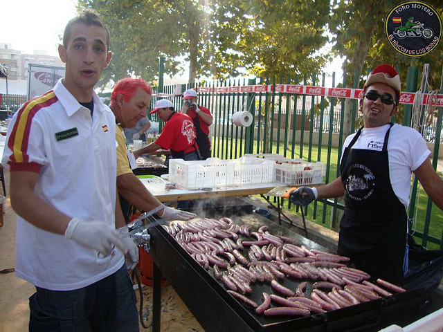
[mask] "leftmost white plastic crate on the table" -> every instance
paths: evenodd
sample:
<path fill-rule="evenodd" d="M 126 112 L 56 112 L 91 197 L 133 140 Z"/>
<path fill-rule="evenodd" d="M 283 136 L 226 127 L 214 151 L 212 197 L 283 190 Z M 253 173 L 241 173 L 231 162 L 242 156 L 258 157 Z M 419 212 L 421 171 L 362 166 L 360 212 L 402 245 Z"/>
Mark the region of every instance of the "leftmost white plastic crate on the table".
<path fill-rule="evenodd" d="M 229 160 L 169 160 L 169 181 L 186 189 L 228 187 L 234 185 L 234 164 Z"/>

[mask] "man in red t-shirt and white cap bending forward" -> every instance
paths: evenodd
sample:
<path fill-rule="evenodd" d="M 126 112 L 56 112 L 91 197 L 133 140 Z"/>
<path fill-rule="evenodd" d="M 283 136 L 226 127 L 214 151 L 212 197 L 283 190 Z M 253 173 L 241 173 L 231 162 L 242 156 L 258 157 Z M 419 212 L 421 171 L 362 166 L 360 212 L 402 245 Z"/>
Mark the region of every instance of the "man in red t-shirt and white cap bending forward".
<path fill-rule="evenodd" d="M 194 124 L 189 116 L 174 111 L 174 105 L 167 99 L 158 100 L 151 114 L 157 113 L 166 122 L 160 136 L 150 145 L 138 149 L 134 156 L 150 154 L 158 149 L 170 149 L 171 158 L 200 160 L 199 146 L 195 142 Z"/>

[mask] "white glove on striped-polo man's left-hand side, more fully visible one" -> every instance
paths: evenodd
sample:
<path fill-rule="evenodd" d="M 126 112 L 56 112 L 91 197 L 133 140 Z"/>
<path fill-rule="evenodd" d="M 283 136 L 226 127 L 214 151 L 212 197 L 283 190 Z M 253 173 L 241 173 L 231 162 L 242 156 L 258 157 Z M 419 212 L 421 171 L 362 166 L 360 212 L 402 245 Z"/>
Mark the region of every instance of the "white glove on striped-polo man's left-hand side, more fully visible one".
<path fill-rule="evenodd" d="M 97 250 L 103 256 L 111 255 L 115 247 L 125 255 L 127 248 L 118 232 L 103 221 L 84 221 L 73 218 L 69 221 L 64 237 L 73 239 L 80 245 Z"/>

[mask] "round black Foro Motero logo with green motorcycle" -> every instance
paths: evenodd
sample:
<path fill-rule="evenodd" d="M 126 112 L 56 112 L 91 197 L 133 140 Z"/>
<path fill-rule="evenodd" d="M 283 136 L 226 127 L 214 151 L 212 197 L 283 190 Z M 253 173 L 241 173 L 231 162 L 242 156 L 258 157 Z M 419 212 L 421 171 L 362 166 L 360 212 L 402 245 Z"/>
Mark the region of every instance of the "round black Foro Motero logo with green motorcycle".
<path fill-rule="evenodd" d="M 423 1 L 395 5 L 386 15 L 385 33 L 390 46 L 407 57 L 422 57 L 442 39 L 442 19 Z"/>

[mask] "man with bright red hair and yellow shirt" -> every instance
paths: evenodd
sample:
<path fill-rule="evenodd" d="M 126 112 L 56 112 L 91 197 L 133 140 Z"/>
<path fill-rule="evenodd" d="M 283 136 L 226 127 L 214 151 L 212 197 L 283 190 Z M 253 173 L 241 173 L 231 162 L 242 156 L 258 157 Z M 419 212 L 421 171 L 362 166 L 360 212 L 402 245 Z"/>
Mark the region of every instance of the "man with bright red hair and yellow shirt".
<path fill-rule="evenodd" d="M 146 116 L 151 95 L 150 85 L 136 78 L 120 80 L 111 94 L 109 108 L 116 116 L 117 123 L 117 189 L 120 205 L 126 221 L 129 221 L 130 205 L 145 212 L 157 209 L 156 214 L 163 219 L 188 220 L 195 214 L 164 206 L 132 172 L 136 168 L 136 159 L 126 146 L 123 129 L 135 127 L 138 120 Z"/>

